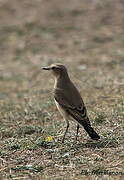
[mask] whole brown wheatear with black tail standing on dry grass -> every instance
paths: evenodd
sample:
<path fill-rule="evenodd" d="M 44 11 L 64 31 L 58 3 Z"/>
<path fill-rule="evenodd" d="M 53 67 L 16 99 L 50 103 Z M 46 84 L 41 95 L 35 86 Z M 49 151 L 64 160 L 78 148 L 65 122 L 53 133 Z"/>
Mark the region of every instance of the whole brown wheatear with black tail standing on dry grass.
<path fill-rule="evenodd" d="M 54 100 L 58 110 L 67 122 L 62 142 L 64 142 L 65 135 L 69 128 L 69 117 L 72 117 L 77 123 L 76 139 L 79 126 L 83 126 L 93 140 L 100 139 L 100 136 L 91 127 L 82 97 L 70 80 L 66 67 L 62 64 L 56 63 L 48 67 L 43 67 L 42 69 L 52 71 L 55 77 Z"/>

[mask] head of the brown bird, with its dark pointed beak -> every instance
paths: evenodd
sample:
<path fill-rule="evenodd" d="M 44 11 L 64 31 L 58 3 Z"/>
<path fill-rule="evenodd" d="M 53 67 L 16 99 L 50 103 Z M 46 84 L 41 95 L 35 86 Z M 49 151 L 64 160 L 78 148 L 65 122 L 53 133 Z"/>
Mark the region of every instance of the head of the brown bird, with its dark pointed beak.
<path fill-rule="evenodd" d="M 60 77 L 61 75 L 67 74 L 67 69 L 63 64 L 51 64 L 47 67 L 42 67 L 43 70 L 49 70 L 53 73 L 55 77 Z"/>

